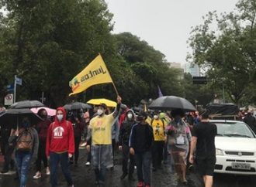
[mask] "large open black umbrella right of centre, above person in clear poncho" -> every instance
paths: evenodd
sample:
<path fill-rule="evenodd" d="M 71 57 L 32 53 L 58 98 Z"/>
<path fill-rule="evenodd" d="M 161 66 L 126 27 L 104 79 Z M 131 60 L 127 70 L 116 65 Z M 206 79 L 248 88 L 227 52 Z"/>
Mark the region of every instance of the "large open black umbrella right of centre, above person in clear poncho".
<path fill-rule="evenodd" d="M 185 111 L 195 111 L 195 107 L 182 97 L 175 96 L 164 96 L 158 97 L 156 100 L 153 100 L 149 108 L 154 110 L 173 110 L 173 109 L 182 109 Z"/>

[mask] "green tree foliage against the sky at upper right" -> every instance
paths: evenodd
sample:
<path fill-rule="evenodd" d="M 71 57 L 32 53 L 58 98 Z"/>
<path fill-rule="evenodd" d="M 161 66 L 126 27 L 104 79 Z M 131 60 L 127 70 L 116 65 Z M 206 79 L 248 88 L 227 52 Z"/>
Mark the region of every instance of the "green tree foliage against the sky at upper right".
<path fill-rule="evenodd" d="M 193 51 L 189 59 L 206 66 L 207 76 L 215 82 L 212 86 L 221 90 L 224 85 L 229 100 L 241 104 L 241 100 L 254 94 L 248 88 L 254 87 L 256 70 L 255 1 L 240 0 L 237 10 L 206 15 L 204 23 L 192 30 L 189 43 Z M 214 23 L 218 24 L 216 29 Z"/>

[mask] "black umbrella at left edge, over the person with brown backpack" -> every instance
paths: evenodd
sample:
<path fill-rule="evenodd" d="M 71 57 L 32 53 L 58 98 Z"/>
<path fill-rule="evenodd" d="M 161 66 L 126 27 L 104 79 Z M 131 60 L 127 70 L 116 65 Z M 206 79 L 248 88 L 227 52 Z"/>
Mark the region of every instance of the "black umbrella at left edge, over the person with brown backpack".
<path fill-rule="evenodd" d="M 28 108 L 22 108 L 6 110 L 5 113 L 0 115 L 0 124 L 16 127 L 17 125 L 22 123 L 23 117 L 29 117 L 29 121 L 32 125 L 43 121 L 41 117 L 39 117 L 37 114 L 34 114 Z"/>

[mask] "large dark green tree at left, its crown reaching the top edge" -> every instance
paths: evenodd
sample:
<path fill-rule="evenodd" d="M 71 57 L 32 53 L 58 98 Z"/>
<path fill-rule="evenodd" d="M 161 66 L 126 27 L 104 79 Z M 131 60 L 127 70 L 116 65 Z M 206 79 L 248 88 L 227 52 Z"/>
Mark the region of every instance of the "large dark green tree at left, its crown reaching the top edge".
<path fill-rule="evenodd" d="M 112 14 L 104 1 L 2 1 L 2 70 L 11 80 L 22 77 L 19 99 L 39 99 L 41 92 L 55 106 L 64 104 L 68 82 L 98 53 L 114 51 Z M 5 35 L 5 36 L 4 36 Z"/>

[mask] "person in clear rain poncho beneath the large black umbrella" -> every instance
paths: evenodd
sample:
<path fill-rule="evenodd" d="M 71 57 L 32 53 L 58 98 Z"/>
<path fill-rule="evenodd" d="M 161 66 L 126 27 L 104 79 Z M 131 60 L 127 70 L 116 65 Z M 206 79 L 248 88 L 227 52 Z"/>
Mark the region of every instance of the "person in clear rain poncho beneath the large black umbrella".
<path fill-rule="evenodd" d="M 168 124 L 166 134 L 168 134 L 168 151 L 171 153 L 171 157 L 174 161 L 178 180 L 187 184 L 185 173 L 191 133 L 189 126 L 182 120 L 184 115 L 184 111 L 182 110 L 176 109 L 171 111 L 171 116 L 174 119 Z"/>

